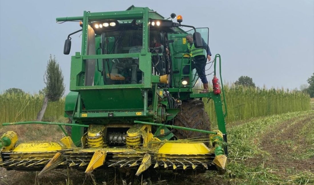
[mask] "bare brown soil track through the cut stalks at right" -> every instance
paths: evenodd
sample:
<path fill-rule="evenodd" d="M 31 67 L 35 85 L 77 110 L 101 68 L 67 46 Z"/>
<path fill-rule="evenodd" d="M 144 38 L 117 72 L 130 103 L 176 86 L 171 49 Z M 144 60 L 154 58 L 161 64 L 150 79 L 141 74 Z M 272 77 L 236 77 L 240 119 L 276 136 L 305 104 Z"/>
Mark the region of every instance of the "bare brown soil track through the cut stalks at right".
<path fill-rule="evenodd" d="M 307 143 L 305 142 L 304 138 L 306 136 L 301 136 L 299 135 L 299 133 L 302 128 L 314 118 L 314 115 L 304 115 L 302 117 L 303 118 L 299 118 L 298 120 L 297 118 L 294 118 L 285 122 L 275 131 L 271 131 L 263 137 L 263 139 L 261 140 L 261 148 L 271 154 L 271 157 L 269 157 L 267 161 L 264 161 L 265 165 L 275 166 L 276 169 L 280 170 L 280 172 L 285 172 L 287 168 L 293 167 L 298 171 L 314 172 L 314 157 L 305 160 L 293 159 L 289 156 L 289 153 L 295 152 L 291 146 L 289 146 L 288 144 L 275 143 L 276 140 L 294 141 L 293 145 L 304 146 L 302 147 L 302 149 L 300 149 L 300 147 L 298 149 L 302 150 L 301 152 L 305 152 Z M 289 126 L 293 122 L 295 123 L 292 126 Z M 284 131 L 280 133 L 280 131 L 282 131 L 283 129 Z M 257 160 L 261 162 L 261 159 Z"/>

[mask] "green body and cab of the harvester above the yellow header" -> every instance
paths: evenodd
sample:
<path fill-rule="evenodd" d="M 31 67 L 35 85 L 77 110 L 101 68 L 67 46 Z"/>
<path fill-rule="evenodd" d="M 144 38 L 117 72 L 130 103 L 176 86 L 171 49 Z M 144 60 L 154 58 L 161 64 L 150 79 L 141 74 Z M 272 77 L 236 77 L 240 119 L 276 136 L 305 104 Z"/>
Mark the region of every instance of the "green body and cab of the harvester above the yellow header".
<path fill-rule="evenodd" d="M 198 80 L 196 70 L 190 70 L 187 75 L 182 72 L 185 66 L 191 69 L 191 58 L 186 53 L 187 32 L 180 27 L 157 28 L 151 24 L 160 21 L 161 24 L 171 22 L 172 25 L 171 20 L 165 20 L 150 8 L 131 6 L 126 11 L 84 11 L 82 17 L 57 18 L 57 21 L 83 23 L 82 48 L 71 57 L 71 92 L 65 103 L 66 116 L 72 117 L 73 124 L 131 124 L 141 121 L 142 124 L 158 124 L 155 126 L 161 126 L 160 130 L 163 125 L 168 127 L 167 123 L 172 122 L 180 111 L 169 102 L 204 97 L 214 100 L 219 130 L 226 134 L 220 95 L 196 94 L 193 90 Z M 109 26 L 108 30 L 95 27 L 104 21 L 115 21 L 116 27 Z M 151 49 L 152 38 L 156 39 L 156 35 L 168 49 L 169 56 L 165 48 L 161 48 L 159 53 Z M 137 39 L 127 40 L 133 37 Z M 120 41 L 119 38 L 126 39 Z M 160 76 L 166 74 L 169 85 L 160 83 Z M 189 83 L 182 85 L 185 78 L 190 79 Z M 72 127 L 71 137 L 76 145 L 80 144 L 85 131 L 79 126 Z M 162 137 L 169 140 L 172 133 Z"/>

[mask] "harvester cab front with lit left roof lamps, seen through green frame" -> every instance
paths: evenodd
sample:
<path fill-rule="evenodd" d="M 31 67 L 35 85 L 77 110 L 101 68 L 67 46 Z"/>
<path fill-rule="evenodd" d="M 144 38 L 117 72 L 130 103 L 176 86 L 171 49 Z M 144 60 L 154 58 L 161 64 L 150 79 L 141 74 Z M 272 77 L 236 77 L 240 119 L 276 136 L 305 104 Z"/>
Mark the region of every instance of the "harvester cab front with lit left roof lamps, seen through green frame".
<path fill-rule="evenodd" d="M 88 45 L 94 41 L 96 54 L 139 54 L 143 49 L 142 19 L 133 20 L 102 20 L 90 23 L 92 39 L 87 39 Z M 94 32 L 93 32 L 94 31 Z M 90 32 L 89 32 L 90 33 Z M 88 53 L 89 54 L 89 53 Z M 98 59 L 96 64 L 86 63 L 87 66 L 96 66 L 93 78 L 100 85 L 142 84 L 143 72 L 139 69 L 138 55 L 120 58 Z M 94 67 L 95 69 L 95 67 Z M 91 78 L 89 73 L 87 78 Z M 85 83 L 87 84 L 87 83 Z"/>

